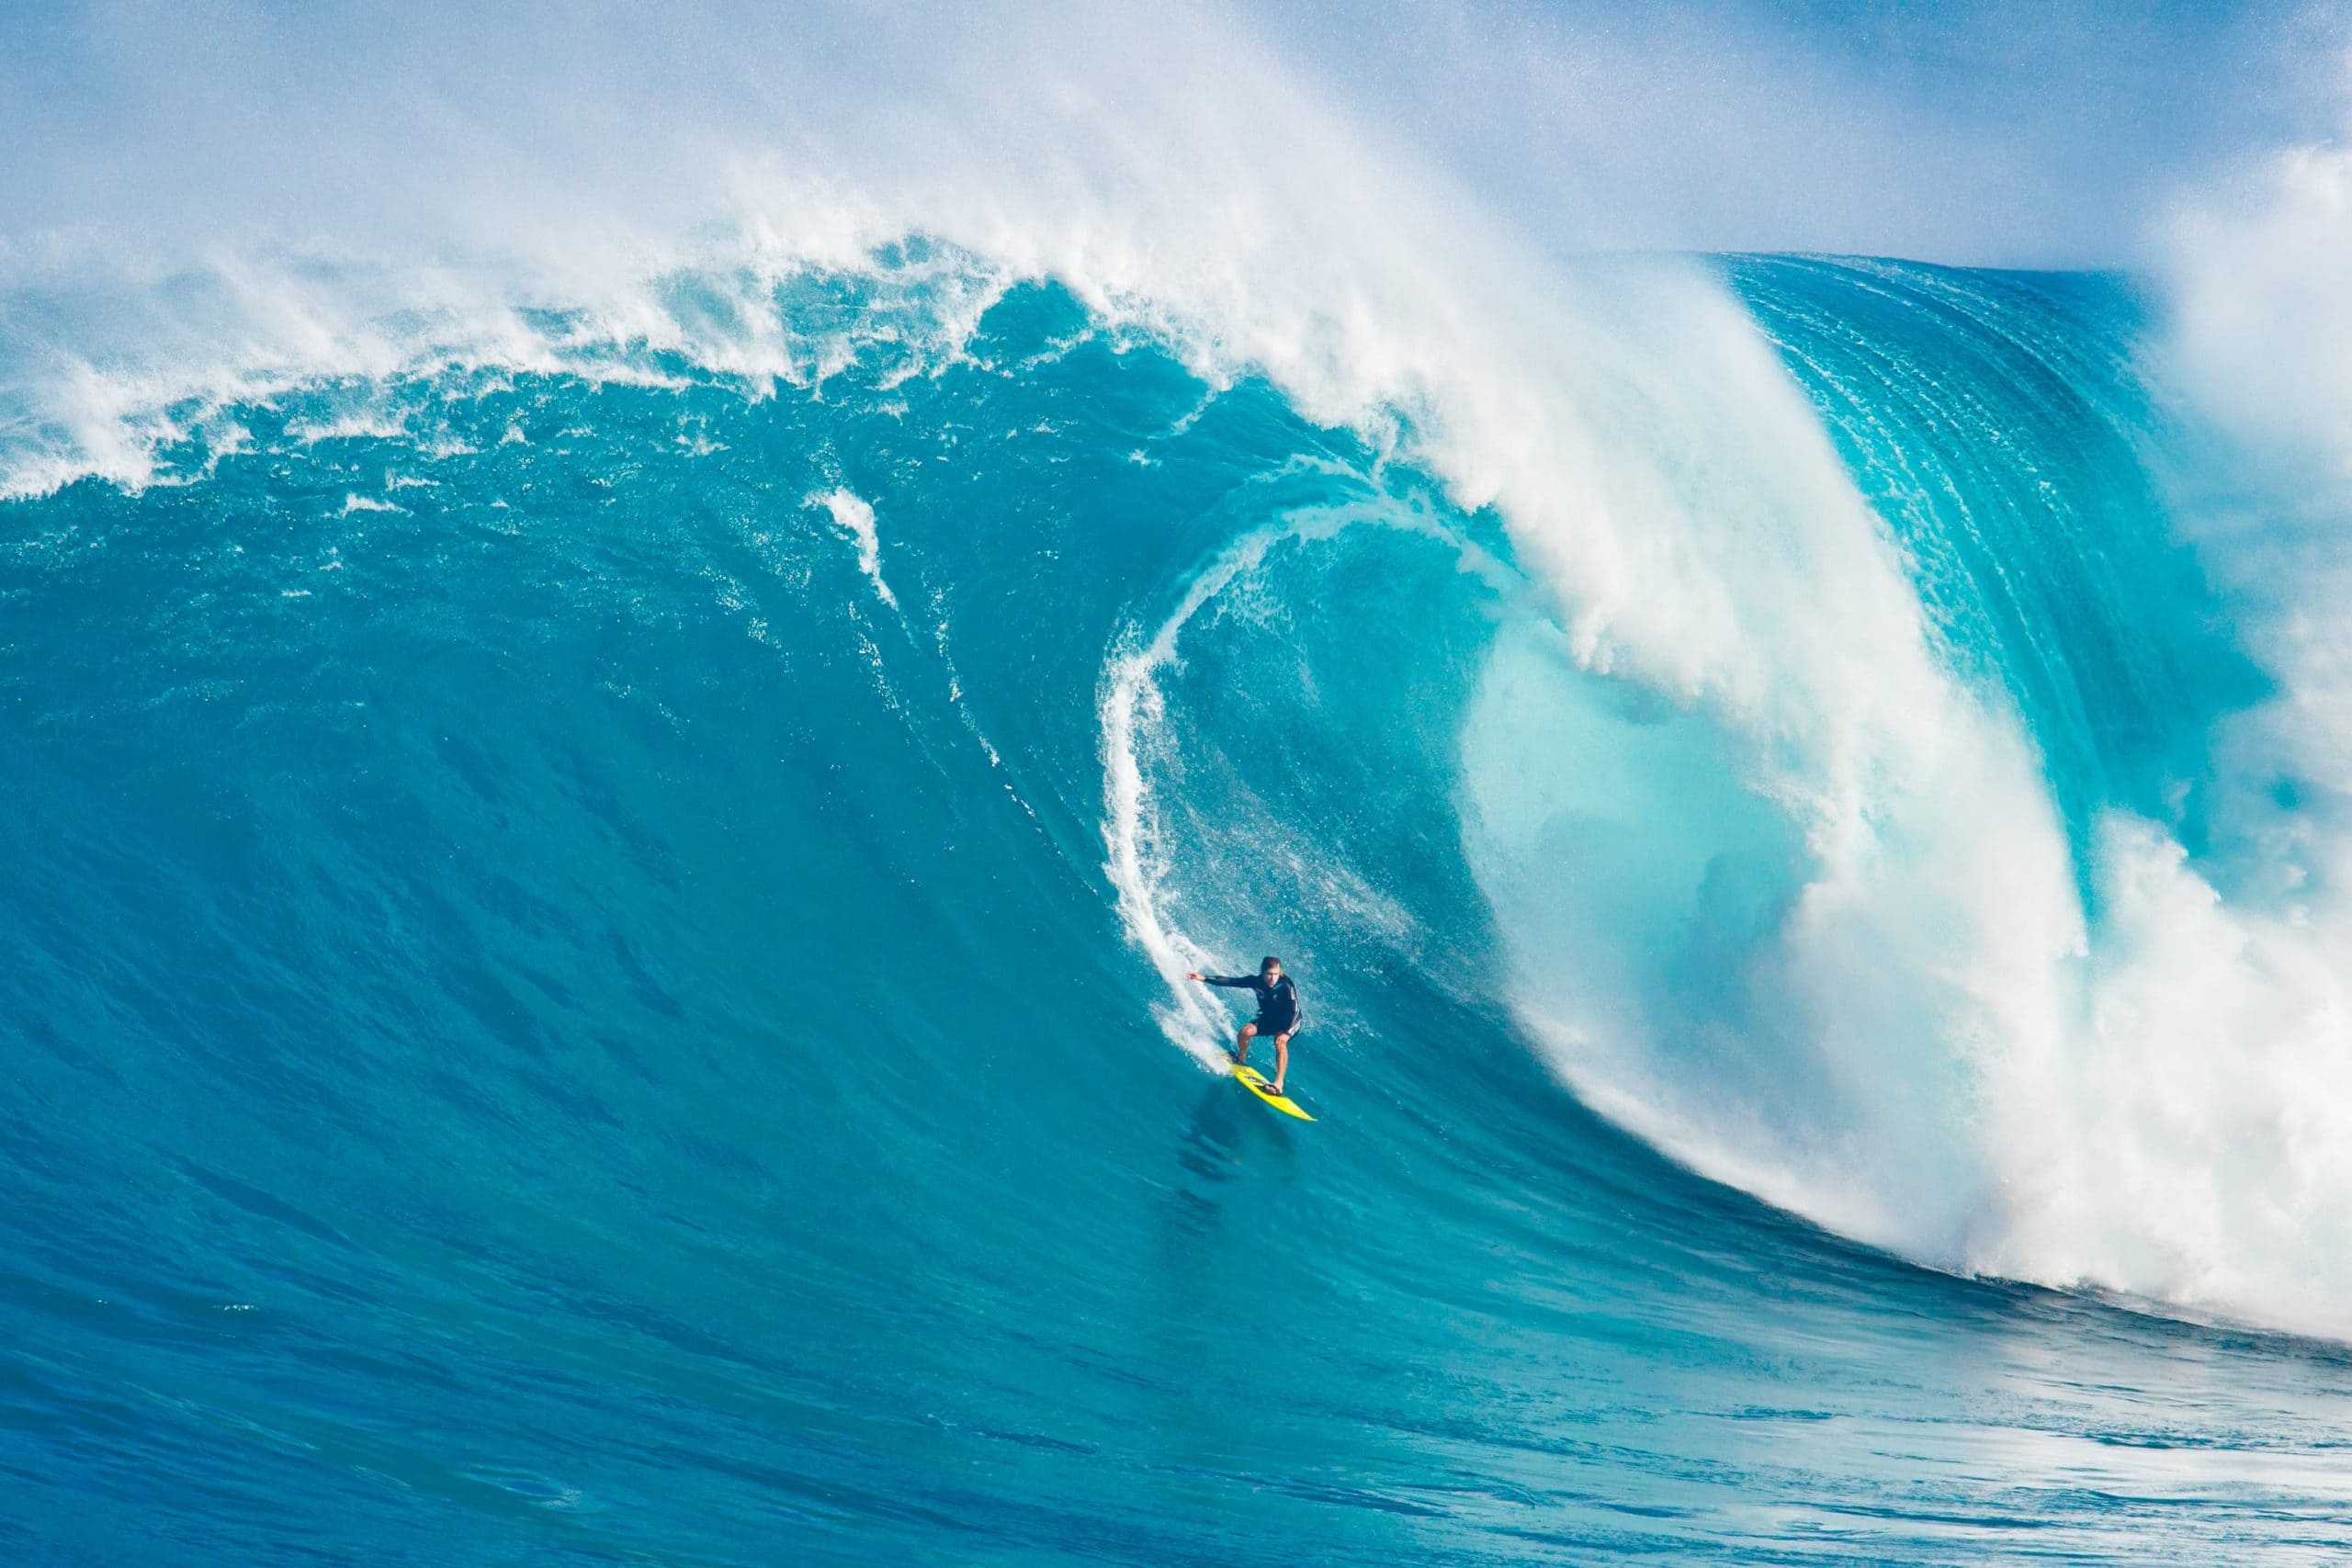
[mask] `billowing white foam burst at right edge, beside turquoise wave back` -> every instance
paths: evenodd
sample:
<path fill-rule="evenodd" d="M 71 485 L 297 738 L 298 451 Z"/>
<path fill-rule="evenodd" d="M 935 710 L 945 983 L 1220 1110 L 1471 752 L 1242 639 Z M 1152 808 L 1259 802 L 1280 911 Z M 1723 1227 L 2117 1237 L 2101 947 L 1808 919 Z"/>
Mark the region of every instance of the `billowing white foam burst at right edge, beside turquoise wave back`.
<path fill-rule="evenodd" d="M 2352 158 L 2171 230 L 2157 376 L 2227 449 L 2180 487 L 2274 696 L 2213 736 L 2209 849 L 2098 825 L 2082 1006 L 1992 1081 L 1985 1267 L 2352 1333 Z"/>

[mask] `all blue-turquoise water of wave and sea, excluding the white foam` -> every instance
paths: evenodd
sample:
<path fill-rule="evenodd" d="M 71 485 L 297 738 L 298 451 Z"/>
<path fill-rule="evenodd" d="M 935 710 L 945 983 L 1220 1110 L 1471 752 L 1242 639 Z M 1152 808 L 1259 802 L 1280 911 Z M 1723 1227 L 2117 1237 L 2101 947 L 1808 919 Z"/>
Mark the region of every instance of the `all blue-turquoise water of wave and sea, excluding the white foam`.
<path fill-rule="evenodd" d="M 2103 811 L 2206 853 L 2267 682 L 2176 541 L 2131 289 L 1715 268 L 2093 929 Z M 847 334 L 811 386 L 296 381 L 0 503 L 7 1556 L 2352 1547 L 2340 1345 L 1842 1239 L 1550 1070 L 1465 827 L 1491 703 L 1583 691 L 1616 762 L 1559 766 L 1682 802 L 1545 827 L 1592 879 L 1545 893 L 1668 954 L 1679 1072 L 1757 1070 L 1726 976 L 1813 851 L 1705 710 L 1548 639 L 1505 515 L 1061 287 L 943 360 L 875 289 L 771 299 Z M 1301 978 L 1317 1124 L 1171 1044 L 1127 757 L 1152 917 Z"/>

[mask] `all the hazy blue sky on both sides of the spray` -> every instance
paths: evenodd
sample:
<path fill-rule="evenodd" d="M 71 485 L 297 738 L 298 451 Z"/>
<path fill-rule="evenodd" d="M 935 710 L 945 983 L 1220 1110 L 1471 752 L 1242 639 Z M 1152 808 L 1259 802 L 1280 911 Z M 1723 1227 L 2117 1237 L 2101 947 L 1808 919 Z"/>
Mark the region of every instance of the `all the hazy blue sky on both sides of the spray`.
<path fill-rule="evenodd" d="M 477 235 L 501 202 L 567 200 L 691 221 L 715 158 L 915 113 L 1068 31 L 1054 7 L 482 12 L 16 0 L 0 237 L 430 242 L 454 207 Z M 1202 26 L 1559 247 L 2018 266 L 2131 263 L 2183 190 L 2333 136 L 2347 33 L 2343 5 L 2086 0 L 1331 0 Z"/>

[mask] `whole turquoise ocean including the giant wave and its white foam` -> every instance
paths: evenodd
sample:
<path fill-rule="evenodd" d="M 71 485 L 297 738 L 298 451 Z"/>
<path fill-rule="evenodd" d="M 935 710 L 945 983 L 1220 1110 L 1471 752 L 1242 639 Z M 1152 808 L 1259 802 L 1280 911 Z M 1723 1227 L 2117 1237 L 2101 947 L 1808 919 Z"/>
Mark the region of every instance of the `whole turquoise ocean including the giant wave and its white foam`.
<path fill-rule="evenodd" d="M 2147 301 L 1578 287 L 19 301 L 9 1561 L 2343 1561 L 2331 752 Z"/>

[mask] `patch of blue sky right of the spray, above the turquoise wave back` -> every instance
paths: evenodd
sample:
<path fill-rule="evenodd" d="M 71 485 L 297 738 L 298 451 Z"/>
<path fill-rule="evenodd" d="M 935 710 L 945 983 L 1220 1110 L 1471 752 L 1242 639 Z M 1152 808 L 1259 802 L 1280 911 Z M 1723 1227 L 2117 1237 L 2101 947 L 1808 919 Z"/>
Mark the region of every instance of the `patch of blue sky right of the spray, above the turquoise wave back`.
<path fill-rule="evenodd" d="M 1350 9 L 1289 26 L 1458 167 L 1705 249 L 2129 263 L 2185 190 L 2331 139 L 2352 80 L 2343 5 L 1397 7 L 1411 47 Z"/>

